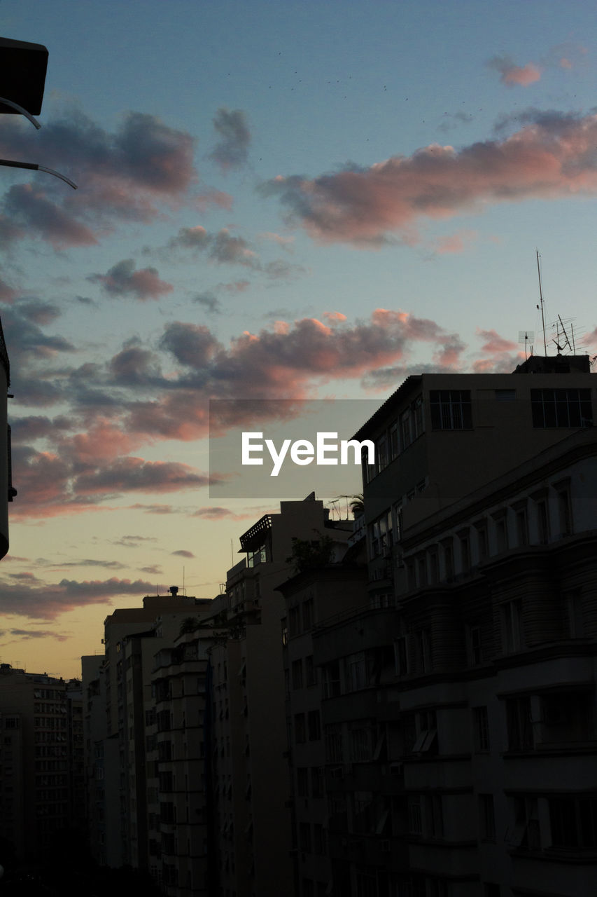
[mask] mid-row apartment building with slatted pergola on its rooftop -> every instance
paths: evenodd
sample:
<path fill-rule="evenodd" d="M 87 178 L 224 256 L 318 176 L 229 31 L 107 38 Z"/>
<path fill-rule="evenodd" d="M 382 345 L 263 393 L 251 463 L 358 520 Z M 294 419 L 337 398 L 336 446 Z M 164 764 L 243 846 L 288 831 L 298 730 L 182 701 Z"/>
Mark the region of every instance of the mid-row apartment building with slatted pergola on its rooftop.
<path fill-rule="evenodd" d="M 214 643 L 212 749 L 221 897 L 293 893 L 293 839 L 282 642 L 286 608 L 276 590 L 293 571 L 293 545 L 342 541 L 323 502 L 282 501 L 240 536 L 246 558 L 227 574 L 228 627 Z M 344 540 L 350 533 L 346 531 Z M 294 540 L 294 541 L 293 541 Z"/>

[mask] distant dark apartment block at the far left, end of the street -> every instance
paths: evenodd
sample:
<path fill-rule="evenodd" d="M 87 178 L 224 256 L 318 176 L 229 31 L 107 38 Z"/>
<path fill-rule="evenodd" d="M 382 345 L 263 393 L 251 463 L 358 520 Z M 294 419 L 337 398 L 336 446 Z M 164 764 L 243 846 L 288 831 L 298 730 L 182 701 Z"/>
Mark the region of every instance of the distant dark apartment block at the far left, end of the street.
<path fill-rule="evenodd" d="M 75 686 L 0 665 L 0 837 L 21 860 L 48 858 L 56 837 L 81 823 Z"/>

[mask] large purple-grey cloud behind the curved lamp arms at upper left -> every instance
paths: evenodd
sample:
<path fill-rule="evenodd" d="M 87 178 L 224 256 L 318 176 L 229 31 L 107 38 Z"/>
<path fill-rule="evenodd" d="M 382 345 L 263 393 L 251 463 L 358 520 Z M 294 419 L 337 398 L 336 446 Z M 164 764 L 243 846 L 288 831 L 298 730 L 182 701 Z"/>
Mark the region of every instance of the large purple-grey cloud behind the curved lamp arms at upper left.
<path fill-rule="evenodd" d="M 35 135 L 16 116 L 6 118 L 11 120 L 3 122 L 0 155 L 34 154 L 84 190 L 55 194 L 48 186 L 46 191 L 41 186 L 48 183 L 46 175 L 13 185 L 4 195 L 0 236 L 2 231 L 8 239 L 34 234 L 59 249 L 89 246 L 118 222 L 151 222 L 162 205 L 192 199 L 195 141 L 155 116 L 128 112 L 110 133 L 71 109 Z"/>

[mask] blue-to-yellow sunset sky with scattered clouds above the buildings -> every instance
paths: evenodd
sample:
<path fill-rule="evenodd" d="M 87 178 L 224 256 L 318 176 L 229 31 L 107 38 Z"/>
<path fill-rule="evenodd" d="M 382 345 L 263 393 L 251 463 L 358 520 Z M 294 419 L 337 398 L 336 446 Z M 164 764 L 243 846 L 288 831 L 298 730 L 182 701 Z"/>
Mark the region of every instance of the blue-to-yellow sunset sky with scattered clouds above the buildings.
<path fill-rule="evenodd" d="M 537 249 L 549 353 L 558 315 L 597 353 L 594 3 L 0 0 L 0 35 L 49 50 L 0 157 L 78 186 L 0 168 L 2 662 L 78 676 L 115 608 L 218 594 L 276 501 L 210 498 L 209 399 L 513 370 Z"/>

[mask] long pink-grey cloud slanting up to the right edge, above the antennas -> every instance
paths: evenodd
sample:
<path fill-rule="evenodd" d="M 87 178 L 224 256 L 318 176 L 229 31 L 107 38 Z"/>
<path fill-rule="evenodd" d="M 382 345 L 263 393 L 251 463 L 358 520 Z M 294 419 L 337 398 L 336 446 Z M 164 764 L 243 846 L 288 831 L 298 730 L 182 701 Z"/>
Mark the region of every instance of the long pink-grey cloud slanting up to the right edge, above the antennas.
<path fill-rule="evenodd" d="M 460 150 L 431 144 L 367 169 L 315 179 L 278 177 L 262 192 L 321 243 L 379 247 L 388 234 L 417 241 L 416 225 L 480 212 L 488 205 L 597 193 L 597 116 L 531 112 L 502 140 Z"/>

